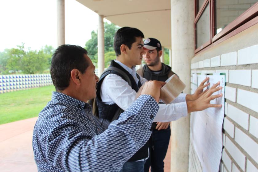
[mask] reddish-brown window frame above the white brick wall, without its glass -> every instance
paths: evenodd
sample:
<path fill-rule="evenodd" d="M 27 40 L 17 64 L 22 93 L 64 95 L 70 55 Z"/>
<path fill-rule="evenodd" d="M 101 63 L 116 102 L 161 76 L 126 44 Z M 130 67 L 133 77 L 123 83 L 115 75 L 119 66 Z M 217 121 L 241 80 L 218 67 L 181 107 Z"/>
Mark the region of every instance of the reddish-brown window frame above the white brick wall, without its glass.
<path fill-rule="evenodd" d="M 216 6 L 215 0 L 205 0 L 201 5 L 199 11 L 198 9 L 198 0 L 195 1 L 195 18 L 194 18 L 194 44 L 195 44 L 195 51 L 194 53 L 201 53 L 206 49 L 211 48 L 214 45 L 225 41 L 226 39 L 236 35 L 237 33 L 242 32 L 243 30 L 251 27 L 258 23 L 258 2 L 256 2 L 253 6 L 247 9 L 243 14 L 238 16 L 233 22 L 229 23 L 221 32 L 215 32 L 215 22 L 216 22 Z M 196 23 L 198 22 L 201 14 L 205 10 L 205 7 L 209 3 L 210 7 L 210 40 L 207 41 L 205 44 L 201 45 L 200 47 L 197 46 L 197 32 L 196 32 Z"/>

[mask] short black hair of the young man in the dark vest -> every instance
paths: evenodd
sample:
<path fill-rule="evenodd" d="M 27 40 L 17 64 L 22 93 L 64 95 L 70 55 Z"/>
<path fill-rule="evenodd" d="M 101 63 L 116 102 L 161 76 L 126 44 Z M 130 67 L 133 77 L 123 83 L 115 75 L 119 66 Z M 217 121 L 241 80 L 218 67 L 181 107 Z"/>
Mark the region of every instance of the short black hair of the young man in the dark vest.
<path fill-rule="evenodd" d="M 132 43 L 136 41 L 136 37 L 144 38 L 142 31 L 139 29 L 132 27 L 122 27 L 118 29 L 114 38 L 115 55 L 121 55 L 120 46 L 123 44 L 131 49 Z"/>

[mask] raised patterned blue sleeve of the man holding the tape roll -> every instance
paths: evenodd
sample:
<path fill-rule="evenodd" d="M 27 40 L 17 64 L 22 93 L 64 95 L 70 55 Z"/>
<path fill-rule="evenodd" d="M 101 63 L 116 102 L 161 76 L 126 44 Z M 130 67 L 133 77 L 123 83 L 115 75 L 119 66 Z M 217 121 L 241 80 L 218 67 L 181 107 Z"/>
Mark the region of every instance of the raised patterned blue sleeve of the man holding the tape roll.
<path fill-rule="evenodd" d="M 158 104 L 154 98 L 142 95 L 100 135 L 91 138 L 81 132 L 78 139 L 70 138 L 68 142 L 73 141 L 72 145 L 64 145 L 66 148 L 63 150 L 67 152 L 60 155 L 66 157 L 63 158 L 63 169 L 102 171 L 105 168 L 105 171 L 119 171 L 149 139 L 151 123 L 157 111 Z"/>

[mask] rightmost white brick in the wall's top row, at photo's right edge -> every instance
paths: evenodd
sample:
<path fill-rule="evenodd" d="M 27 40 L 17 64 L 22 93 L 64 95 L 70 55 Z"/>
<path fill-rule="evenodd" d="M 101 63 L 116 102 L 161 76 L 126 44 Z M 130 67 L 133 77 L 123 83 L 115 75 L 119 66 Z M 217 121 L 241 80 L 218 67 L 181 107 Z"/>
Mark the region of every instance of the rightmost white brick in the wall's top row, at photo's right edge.
<path fill-rule="evenodd" d="M 258 63 L 258 45 L 238 50 L 237 65 Z"/>

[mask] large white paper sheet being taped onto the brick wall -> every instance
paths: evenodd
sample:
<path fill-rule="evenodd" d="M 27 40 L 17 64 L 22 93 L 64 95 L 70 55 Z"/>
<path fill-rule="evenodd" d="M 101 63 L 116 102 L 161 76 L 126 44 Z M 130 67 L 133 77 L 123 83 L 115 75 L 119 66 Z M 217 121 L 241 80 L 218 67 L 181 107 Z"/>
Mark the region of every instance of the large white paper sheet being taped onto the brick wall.
<path fill-rule="evenodd" d="M 198 75 L 198 85 L 206 75 Z M 222 108 L 208 108 L 191 113 L 191 140 L 204 172 L 218 172 L 222 151 L 222 123 L 224 119 L 225 75 L 209 75 L 210 86 L 220 81 L 223 96 L 211 101 L 222 104 Z M 200 80 L 199 80 L 200 79 Z"/>

